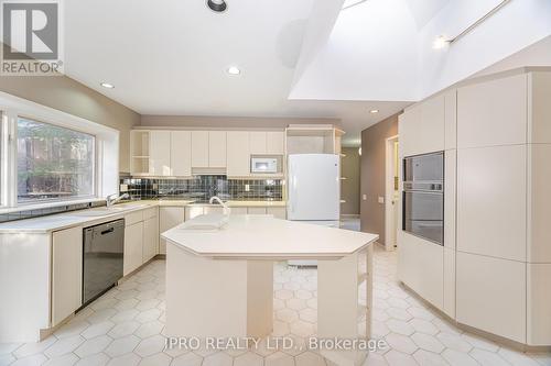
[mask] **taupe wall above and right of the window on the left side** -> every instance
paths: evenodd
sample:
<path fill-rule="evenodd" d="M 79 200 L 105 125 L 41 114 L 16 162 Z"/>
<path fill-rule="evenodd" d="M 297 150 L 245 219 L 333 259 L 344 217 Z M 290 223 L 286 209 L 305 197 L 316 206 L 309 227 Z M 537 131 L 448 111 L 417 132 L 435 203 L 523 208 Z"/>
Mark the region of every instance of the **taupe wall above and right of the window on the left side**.
<path fill-rule="evenodd" d="M 0 91 L 120 131 L 119 170 L 130 170 L 130 129 L 140 114 L 65 76 L 0 77 Z"/>

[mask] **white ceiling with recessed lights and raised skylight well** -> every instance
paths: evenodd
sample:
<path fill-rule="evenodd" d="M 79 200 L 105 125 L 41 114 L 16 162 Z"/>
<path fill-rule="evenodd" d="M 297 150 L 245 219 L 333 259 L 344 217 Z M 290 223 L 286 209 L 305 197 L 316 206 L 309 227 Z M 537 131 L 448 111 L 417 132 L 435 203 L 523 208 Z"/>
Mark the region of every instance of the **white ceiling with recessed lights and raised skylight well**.
<path fill-rule="evenodd" d="M 424 79 L 450 85 L 547 32 L 525 18 L 538 34 L 528 27 L 493 57 L 462 48 L 461 65 L 476 62 L 439 79 L 453 59 L 426 47 L 432 33 L 473 15 L 467 2 L 495 1 L 367 0 L 339 12 L 343 0 L 227 0 L 223 14 L 205 0 L 65 1 L 65 71 L 141 114 L 337 118 L 357 145 L 363 129 L 433 90 Z M 228 76 L 231 65 L 242 74 Z"/>

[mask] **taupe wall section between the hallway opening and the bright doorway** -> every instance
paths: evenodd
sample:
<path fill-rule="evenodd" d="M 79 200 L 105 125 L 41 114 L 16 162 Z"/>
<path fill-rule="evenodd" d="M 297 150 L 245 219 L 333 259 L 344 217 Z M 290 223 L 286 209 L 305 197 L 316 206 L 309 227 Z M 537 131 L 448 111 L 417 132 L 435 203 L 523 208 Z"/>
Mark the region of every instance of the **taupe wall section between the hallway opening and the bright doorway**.
<path fill-rule="evenodd" d="M 385 243 L 385 204 L 378 202 L 385 197 L 386 138 L 398 134 L 398 114 L 361 131 L 361 178 L 360 195 L 367 199 L 360 202 L 361 231 L 379 235 Z"/>

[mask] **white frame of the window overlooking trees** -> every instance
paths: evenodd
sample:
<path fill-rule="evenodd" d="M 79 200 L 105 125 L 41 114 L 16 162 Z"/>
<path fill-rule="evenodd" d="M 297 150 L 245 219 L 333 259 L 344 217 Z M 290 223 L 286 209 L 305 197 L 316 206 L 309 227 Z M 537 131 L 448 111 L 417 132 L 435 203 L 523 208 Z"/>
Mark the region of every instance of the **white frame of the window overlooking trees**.
<path fill-rule="evenodd" d="M 91 195 L 87 195 L 87 196 L 72 196 L 72 197 L 67 197 L 67 198 L 43 198 L 43 199 L 35 199 L 35 200 L 28 200 L 28 201 L 20 201 L 19 200 L 19 171 L 17 171 L 18 174 L 15 175 L 15 186 L 14 186 L 14 193 L 15 193 L 15 198 L 14 198 L 14 201 L 17 203 L 17 207 L 28 207 L 28 206 L 33 206 L 33 204 L 41 204 L 41 203 L 54 203 L 54 202 L 71 202 L 71 201 L 75 201 L 75 200 L 86 200 L 86 199 L 95 199 L 95 198 L 98 198 L 97 196 L 97 191 L 98 191 L 98 181 L 97 181 L 97 167 L 98 167 L 98 137 L 96 136 L 96 134 L 93 134 L 93 133 L 89 133 L 89 132 L 84 132 L 84 131 L 80 131 L 80 130 L 77 130 L 77 129 L 73 129 L 73 127 L 67 127 L 67 126 L 64 126 L 64 125 L 60 125 L 60 124 L 55 124 L 55 123 L 51 123 L 51 122 L 44 122 L 44 121 L 41 121 L 41 120 L 37 120 L 37 119 L 34 119 L 34 118 L 30 118 L 28 115 L 24 115 L 24 114 L 18 114 L 17 115 L 17 119 L 14 121 L 14 134 L 13 134 L 13 137 L 12 137 L 12 142 L 13 142 L 13 154 L 14 154 L 14 158 L 15 158 L 15 168 L 17 168 L 17 165 L 18 165 L 18 158 L 19 158 L 19 152 L 18 152 L 18 131 L 19 131 L 19 127 L 18 127 L 18 123 L 19 123 L 19 120 L 28 120 L 28 121 L 32 121 L 32 122 L 37 122 L 37 123 L 43 123 L 43 124 L 48 124 L 48 125 L 53 125 L 53 126 L 56 126 L 56 127 L 60 127 L 60 129 L 65 129 L 65 130 L 69 130 L 69 131 L 74 131 L 74 132 L 78 132 L 78 133 L 83 133 L 83 134 L 87 134 L 87 135 L 90 135 L 94 137 L 94 147 L 93 147 L 93 164 L 94 164 L 94 168 L 91 170 L 91 176 L 93 176 L 93 187 L 91 187 Z M 1 189 L 1 188 L 0 188 Z"/>

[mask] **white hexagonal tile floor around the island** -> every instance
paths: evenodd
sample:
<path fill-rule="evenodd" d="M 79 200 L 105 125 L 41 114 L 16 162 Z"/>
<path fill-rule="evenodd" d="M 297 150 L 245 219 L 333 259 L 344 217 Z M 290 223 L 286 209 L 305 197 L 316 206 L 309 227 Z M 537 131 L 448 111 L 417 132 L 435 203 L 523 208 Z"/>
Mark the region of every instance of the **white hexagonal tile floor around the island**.
<path fill-rule="evenodd" d="M 396 253 L 375 251 L 374 337 L 389 347 L 366 365 L 550 365 L 551 354 L 518 353 L 463 333 L 396 280 Z M 274 268 L 273 335 L 298 342 L 316 331 L 316 270 Z M 164 262 L 154 260 L 37 344 L 0 344 L 0 365 L 327 365 L 307 351 L 165 350 Z"/>

